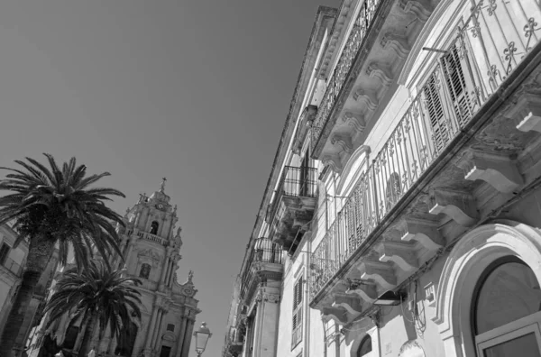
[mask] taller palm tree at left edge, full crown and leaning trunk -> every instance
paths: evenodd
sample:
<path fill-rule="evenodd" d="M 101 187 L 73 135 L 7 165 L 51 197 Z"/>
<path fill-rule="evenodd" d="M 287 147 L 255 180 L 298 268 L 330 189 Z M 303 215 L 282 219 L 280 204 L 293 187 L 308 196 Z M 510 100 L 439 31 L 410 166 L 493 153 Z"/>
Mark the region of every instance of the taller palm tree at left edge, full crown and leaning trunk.
<path fill-rule="evenodd" d="M 89 188 L 110 174 L 86 176 L 87 167 L 76 166 L 75 158 L 60 169 L 51 155 L 44 155 L 50 169 L 31 158 L 26 158 L 28 163 L 15 160 L 19 169 L 0 168 L 10 171 L 0 180 L 0 190 L 12 192 L 0 197 L 0 224 L 13 223 L 19 233 L 14 246 L 23 240 L 29 243 L 21 285 L 0 338 L 3 357 L 12 355 L 33 290 L 57 243 L 60 263 L 66 264 L 71 249 L 79 270 L 87 267 L 94 252 L 104 258 L 113 252 L 122 256 L 114 223 L 124 223 L 104 201 L 124 194 L 113 188 Z"/>

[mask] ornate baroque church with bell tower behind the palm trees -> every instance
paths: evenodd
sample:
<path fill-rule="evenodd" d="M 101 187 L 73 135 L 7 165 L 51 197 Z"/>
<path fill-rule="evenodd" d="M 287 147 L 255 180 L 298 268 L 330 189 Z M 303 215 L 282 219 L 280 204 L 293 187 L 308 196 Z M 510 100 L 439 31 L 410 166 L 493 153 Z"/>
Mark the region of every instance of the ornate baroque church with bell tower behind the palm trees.
<path fill-rule="evenodd" d="M 120 257 L 111 262 L 125 269 L 130 277 L 140 279 L 142 319 L 133 326 L 135 333 L 126 341 L 118 343 L 115 338 L 98 338 L 97 329 L 91 346 L 104 356 L 124 357 L 188 357 L 196 316 L 200 313 L 193 272 L 180 284 L 177 278 L 179 254 L 182 246 L 181 228 L 175 230 L 178 221 L 177 206 L 170 205 L 165 194 L 165 180 L 158 191 L 147 197 L 141 195 L 138 202 L 124 215 L 125 228 L 117 226 L 122 239 Z M 60 271 L 57 279 L 60 277 Z M 54 286 L 50 294 L 54 291 Z M 47 355 L 49 346 L 60 346 L 73 353 L 80 348 L 85 326 L 80 322 L 69 326 L 68 316 L 45 330 L 48 316 L 33 331 L 29 356 Z"/>

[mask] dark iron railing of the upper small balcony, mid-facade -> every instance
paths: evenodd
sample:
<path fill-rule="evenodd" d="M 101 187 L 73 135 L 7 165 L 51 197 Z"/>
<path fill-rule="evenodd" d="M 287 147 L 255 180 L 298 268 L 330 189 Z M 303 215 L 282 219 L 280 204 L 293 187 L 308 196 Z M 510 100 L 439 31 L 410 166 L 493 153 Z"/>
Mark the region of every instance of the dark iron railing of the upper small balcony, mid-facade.
<path fill-rule="evenodd" d="M 280 178 L 280 184 L 271 205 L 267 209 L 267 216 L 265 218 L 267 223 L 271 224 L 271 232 L 280 223 L 280 213 L 283 213 L 280 211 L 285 209 L 280 204 L 284 197 L 316 197 L 316 175 L 316 168 L 296 168 L 293 166 L 286 166 L 284 168 L 284 172 Z"/>

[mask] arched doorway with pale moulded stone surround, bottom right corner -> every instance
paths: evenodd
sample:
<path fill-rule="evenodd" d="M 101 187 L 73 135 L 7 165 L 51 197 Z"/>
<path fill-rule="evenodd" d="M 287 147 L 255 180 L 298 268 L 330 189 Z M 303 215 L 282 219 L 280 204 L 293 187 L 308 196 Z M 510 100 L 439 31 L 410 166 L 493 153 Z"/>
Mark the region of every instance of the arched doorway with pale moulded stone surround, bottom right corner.
<path fill-rule="evenodd" d="M 509 220 L 466 233 L 445 261 L 436 323 L 446 357 L 541 357 L 541 230 Z M 528 351 L 517 350 L 517 343 Z"/>

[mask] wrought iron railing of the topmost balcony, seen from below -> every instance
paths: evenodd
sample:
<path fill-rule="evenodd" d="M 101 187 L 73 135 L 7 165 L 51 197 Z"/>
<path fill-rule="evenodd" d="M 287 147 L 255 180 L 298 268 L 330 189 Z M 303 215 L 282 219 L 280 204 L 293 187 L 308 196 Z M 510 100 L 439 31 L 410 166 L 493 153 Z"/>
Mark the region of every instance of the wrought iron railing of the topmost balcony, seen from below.
<path fill-rule="evenodd" d="M 362 47 L 362 41 L 371 27 L 372 20 L 375 17 L 380 3 L 381 0 L 366 0 L 355 19 L 353 29 L 347 38 L 344 50 L 336 64 L 335 71 L 327 84 L 326 92 L 317 111 L 316 120 L 314 120 L 314 123 L 312 124 L 312 151 L 314 151 L 317 142 L 319 142 L 323 127 L 335 105 L 336 98 L 340 94 L 342 87 L 344 87 L 345 78 L 347 78 L 347 74 L 353 65 L 353 59 L 355 59 L 357 52 Z"/>

